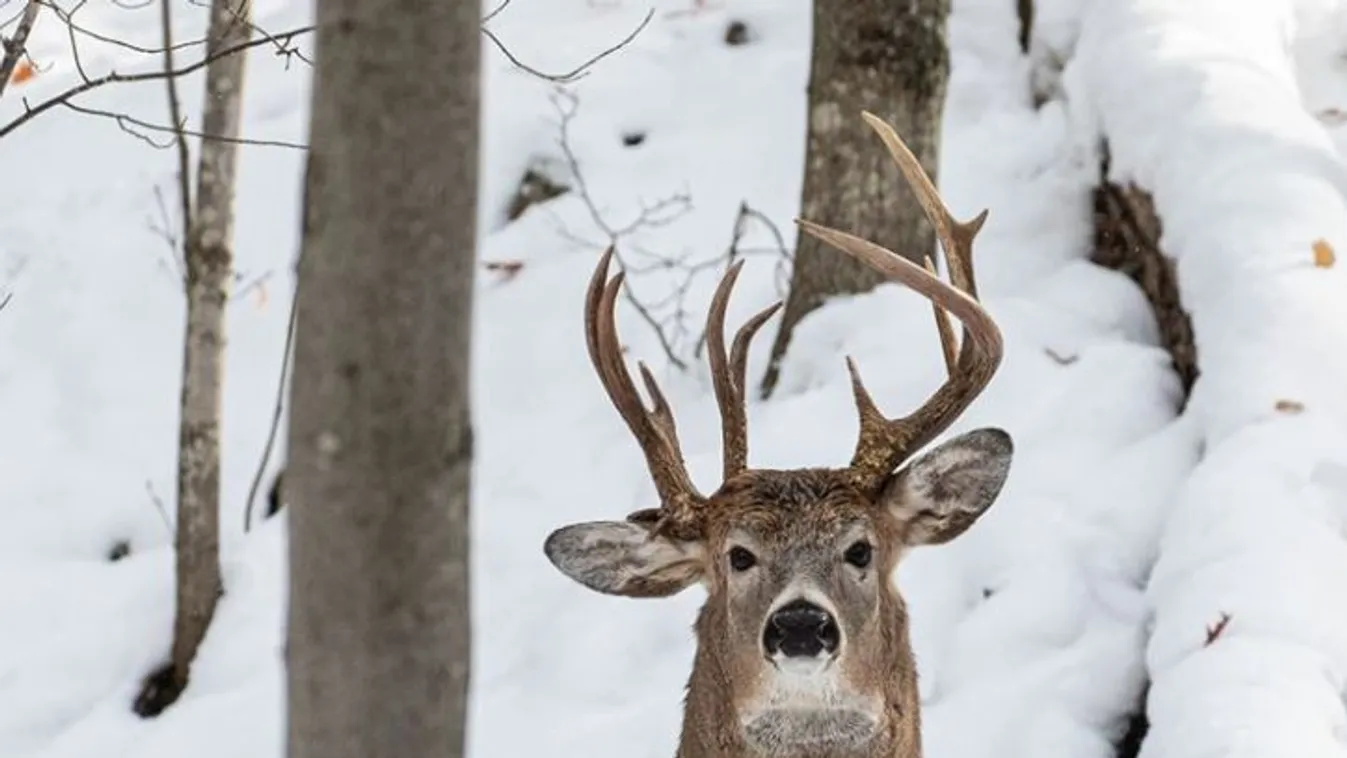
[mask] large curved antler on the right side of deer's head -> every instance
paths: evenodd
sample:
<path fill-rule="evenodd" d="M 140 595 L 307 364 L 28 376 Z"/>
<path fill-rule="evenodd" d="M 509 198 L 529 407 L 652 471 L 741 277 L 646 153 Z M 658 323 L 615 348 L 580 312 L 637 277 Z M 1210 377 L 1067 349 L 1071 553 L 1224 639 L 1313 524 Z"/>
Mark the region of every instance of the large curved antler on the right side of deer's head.
<path fill-rule="evenodd" d="M 865 389 L 855 362 L 847 358 L 851 373 L 851 390 L 855 394 L 855 408 L 861 416 L 861 432 L 851 455 L 850 473 L 858 489 L 876 493 L 888 475 L 912 452 L 921 448 L 973 404 L 973 400 L 986 389 L 987 382 L 1001 364 L 1001 330 L 977 300 L 977 285 L 973 280 L 973 240 L 987 218 L 982 211 L 971 221 L 959 222 L 950 214 L 940 194 L 923 171 L 912 151 L 908 149 L 897 132 L 870 113 L 862 113 L 865 121 L 880 135 L 904 178 L 917 195 L 921 209 L 935 226 L 936 237 L 944 249 L 950 269 L 947 284 L 932 272 L 881 248 L 873 242 L 796 219 L 807 234 L 832 245 L 853 259 L 874 268 L 884 276 L 916 289 L 929 299 L 936 312 L 936 327 L 944 350 L 948 378 L 920 408 L 901 419 L 888 419 L 874 404 Z M 963 324 L 963 341 L 958 358 L 954 331 L 948 327 L 944 312 L 948 311 Z"/>

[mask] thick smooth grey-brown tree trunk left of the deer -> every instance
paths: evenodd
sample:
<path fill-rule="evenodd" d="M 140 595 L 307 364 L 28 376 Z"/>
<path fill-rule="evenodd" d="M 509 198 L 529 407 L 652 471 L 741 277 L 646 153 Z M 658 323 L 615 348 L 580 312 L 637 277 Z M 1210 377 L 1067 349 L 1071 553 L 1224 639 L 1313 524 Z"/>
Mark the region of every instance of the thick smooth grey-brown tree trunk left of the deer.
<path fill-rule="evenodd" d="M 480 3 L 319 0 L 288 755 L 463 754 Z"/>

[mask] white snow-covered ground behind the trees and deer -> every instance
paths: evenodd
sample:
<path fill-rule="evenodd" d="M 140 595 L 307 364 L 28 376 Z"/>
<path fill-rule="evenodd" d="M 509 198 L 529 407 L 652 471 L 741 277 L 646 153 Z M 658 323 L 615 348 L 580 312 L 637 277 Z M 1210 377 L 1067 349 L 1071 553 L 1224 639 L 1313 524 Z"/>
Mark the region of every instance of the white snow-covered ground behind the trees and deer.
<path fill-rule="evenodd" d="M 741 202 L 793 240 L 810 3 L 690 8 L 655 3 L 651 26 L 564 96 L 484 48 L 480 254 L 523 265 L 515 276 L 484 267 L 480 279 L 477 758 L 674 751 L 699 590 L 661 602 L 598 596 L 541 553 L 560 524 L 653 502 L 581 337 L 603 234 L 575 193 L 515 222 L 505 207 L 529 166 L 574 183 L 560 105 L 603 223 L 672 207 L 667 223 L 624 238 L 634 264 L 723 254 Z M 531 65 L 559 71 L 647 11 L 515 0 L 492 28 Z M 308 4 L 256 0 L 255 13 L 280 32 L 304 24 Z M 183 3 L 179 34 L 199 34 L 203 16 Z M 722 42 L 734 19 L 748 44 Z M 147 46 L 158 36 L 154 4 L 101 4 L 79 20 Z M 951 434 L 1001 425 L 1016 463 L 978 525 L 900 570 L 927 753 L 1111 757 L 1153 679 L 1146 758 L 1347 754 L 1347 600 L 1336 592 L 1347 571 L 1347 291 L 1342 268 L 1316 268 L 1311 253 L 1317 238 L 1347 249 L 1347 128 L 1325 114 L 1347 112 L 1347 11 L 1328 0 L 1040 0 L 1033 59 L 1068 61 L 1064 100 L 1040 109 L 1016 23 L 1005 0 L 955 0 L 950 23 L 939 183 L 956 215 L 991 210 L 977 260 L 1006 338 L 1001 373 Z M 0 123 L 22 112 L 20 96 L 38 101 L 78 81 L 54 19 L 39 22 L 32 47 L 51 67 L 0 100 Z M 92 42 L 81 51 L 90 73 L 159 63 Z M 303 141 L 308 74 L 255 51 L 247 135 Z M 199 86 L 185 83 L 189 113 Z M 166 118 L 158 83 L 82 102 Z M 1100 128 L 1117 178 L 1154 190 L 1179 260 L 1203 370 L 1183 419 L 1141 292 L 1087 263 Z M 626 144 L 634 135 L 644 139 Z M 191 687 L 150 722 L 129 701 L 167 652 L 172 605 L 170 529 L 155 505 L 171 514 L 183 315 L 155 232 L 156 187 L 174 207 L 171 151 L 58 109 L 0 139 L 0 285 L 13 292 L 0 311 L 0 419 L 11 432 L 0 438 L 0 754 L 279 757 L 286 524 L 245 536 L 242 510 L 276 392 L 302 153 L 242 151 L 228 595 Z M 660 205 L 684 195 L 686 213 Z M 741 276 L 731 322 L 777 298 L 769 229 L 750 222 L 742 246 L 766 252 Z M 657 302 L 683 277 L 641 273 L 632 287 Z M 714 280 L 707 271 L 688 289 L 694 330 Z M 713 483 L 719 435 L 704 366 L 668 366 L 625 304 L 620 322 L 630 351 L 661 374 L 694 477 Z M 675 347 L 688 357 L 691 339 Z M 845 354 L 893 411 L 917 404 L 944 370 L 924 300 L 892 285 L 838 300 L 796 333 L 777 394 L 750 407 L 754 464 L 845 460 L 855 429 Z M 753 376 L 764 362 L 756 351 Z M 1278 412 L 1278 401 L 1303 409 Z M 129 556 L 109 561 L 120 541 Z M 1204 646 L 1223 613 L 1230 621 Z"/>

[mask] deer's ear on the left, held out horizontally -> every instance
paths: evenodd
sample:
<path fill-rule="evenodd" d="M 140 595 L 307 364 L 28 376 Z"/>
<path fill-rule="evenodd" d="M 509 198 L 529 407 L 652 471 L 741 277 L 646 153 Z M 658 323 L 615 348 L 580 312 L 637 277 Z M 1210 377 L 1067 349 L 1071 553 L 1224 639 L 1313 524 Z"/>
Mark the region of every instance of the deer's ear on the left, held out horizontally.
<path fill-rule="evenodd" d="M 700 543 L 652 536 L 630 521 L 591 521 L 552 532 L 543 552 L 562 574 L 605 595 L 665 598 L 702 579 Z"/>

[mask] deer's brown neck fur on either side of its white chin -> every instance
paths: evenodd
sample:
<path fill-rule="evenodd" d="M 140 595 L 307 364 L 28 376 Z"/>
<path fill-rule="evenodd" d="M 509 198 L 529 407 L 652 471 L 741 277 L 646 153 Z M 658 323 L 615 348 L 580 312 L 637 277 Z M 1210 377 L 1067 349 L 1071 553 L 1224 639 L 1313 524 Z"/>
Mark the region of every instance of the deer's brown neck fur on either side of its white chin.
<path fill-rule="evenodd" d="M 715 645 L 704 644 L 710 613 L 702 609 L 696 622 L 698 649 L 683 703 L 683 728 L 675 758 L 921 758 L 921 714 L 916 666 L 908 641 L 907 611 L 902 602 L 885 602 L 881 617 L 880 687 L 885 700 L 885 723 L 876 739 L 859 753 L 810 753 L 765 755 L 741 736 L 738 714 L 729 693 L 733 677 L 729 661 Z"/>

